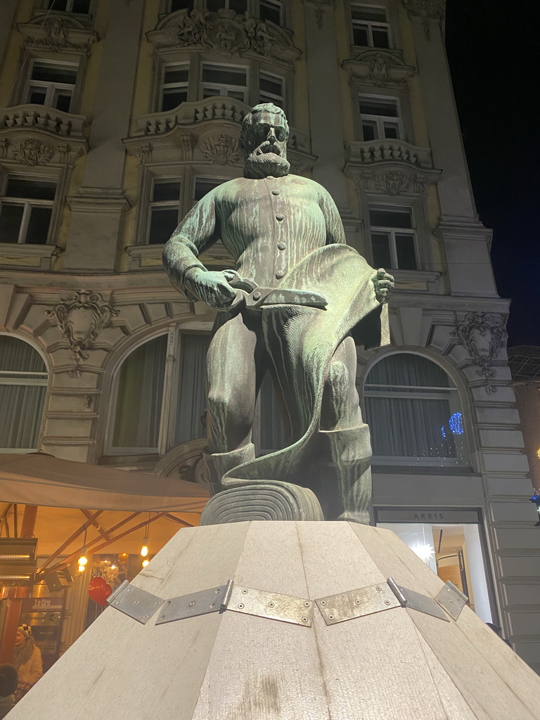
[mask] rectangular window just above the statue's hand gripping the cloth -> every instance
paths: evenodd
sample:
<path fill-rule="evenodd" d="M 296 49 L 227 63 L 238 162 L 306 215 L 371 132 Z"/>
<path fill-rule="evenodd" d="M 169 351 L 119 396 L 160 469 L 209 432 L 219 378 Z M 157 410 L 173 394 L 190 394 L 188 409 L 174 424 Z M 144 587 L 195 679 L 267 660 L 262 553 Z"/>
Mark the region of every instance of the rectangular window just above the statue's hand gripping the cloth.
<path fill-rule="evenodd" d="M 410 207 L 369 208 L 374 267 L 416 270 L 415 230 Z"/>

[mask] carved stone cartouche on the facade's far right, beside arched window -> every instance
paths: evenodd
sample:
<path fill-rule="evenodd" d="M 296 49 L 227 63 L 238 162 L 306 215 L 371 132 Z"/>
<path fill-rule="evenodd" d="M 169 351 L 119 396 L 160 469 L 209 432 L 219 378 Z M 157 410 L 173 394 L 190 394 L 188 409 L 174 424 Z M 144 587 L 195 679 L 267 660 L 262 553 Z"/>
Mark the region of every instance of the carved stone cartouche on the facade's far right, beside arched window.
<path fill-rule="evenodd" d="M 495 375 L 491 366 L 507 338 L 503 322 L 485 312 L 469 312 L 456 326 L 454 335 L 458 336 L 479 366 L 477 374 L 485 378 L 487 392 L 495 392 L 496 387 L 490 385 L 490 378 Z"/>

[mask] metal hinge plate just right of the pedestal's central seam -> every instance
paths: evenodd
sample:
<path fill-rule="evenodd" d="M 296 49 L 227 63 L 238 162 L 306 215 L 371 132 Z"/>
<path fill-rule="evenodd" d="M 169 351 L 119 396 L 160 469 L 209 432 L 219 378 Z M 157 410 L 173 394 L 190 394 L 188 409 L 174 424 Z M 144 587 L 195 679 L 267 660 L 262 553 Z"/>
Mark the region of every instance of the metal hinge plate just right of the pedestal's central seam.
<path fill-rule="evenodd" d="M 315 603 L 327 625 L 380 613 L 390 608 L 399 608 L 401 605 L 386 582 L 367 585 L 366 588 L 358 590 L 348 590 L 338 595 L 328 595 L 327 598 L 318 598 Z"/>

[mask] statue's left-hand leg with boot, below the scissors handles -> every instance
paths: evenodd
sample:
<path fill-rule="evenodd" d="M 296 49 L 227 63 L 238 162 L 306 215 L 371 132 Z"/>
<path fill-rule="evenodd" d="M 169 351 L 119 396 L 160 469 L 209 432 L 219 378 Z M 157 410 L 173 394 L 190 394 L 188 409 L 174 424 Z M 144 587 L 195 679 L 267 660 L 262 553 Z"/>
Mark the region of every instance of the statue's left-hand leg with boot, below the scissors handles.
<path fill-rule="evenodd" d="M 217 328 L 207 354 L 208 446 L 203 453 L 213 492 L 225 472 L 255 457 L 251 427 L 259 354 L 256 318 L 241 313 Z"/>

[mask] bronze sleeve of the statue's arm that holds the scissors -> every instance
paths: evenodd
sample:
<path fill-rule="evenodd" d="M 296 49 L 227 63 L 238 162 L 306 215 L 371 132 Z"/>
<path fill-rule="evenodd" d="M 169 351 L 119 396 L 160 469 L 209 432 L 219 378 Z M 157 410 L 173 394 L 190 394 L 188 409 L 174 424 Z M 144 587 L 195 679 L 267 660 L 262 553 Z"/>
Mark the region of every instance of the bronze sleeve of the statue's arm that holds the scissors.
<path fill-rule="evenodd" d="M 186 292 L 184 276 L 191 268 L 206 268 L 199 260 L 199 254 L 212 246 L 220 235 L 219 220 L 216 216 L 215 190 L 197 202 L 171 235 L 163 248 L 163 265 L 172 282 Z"/>

